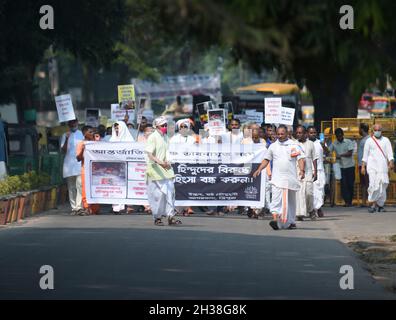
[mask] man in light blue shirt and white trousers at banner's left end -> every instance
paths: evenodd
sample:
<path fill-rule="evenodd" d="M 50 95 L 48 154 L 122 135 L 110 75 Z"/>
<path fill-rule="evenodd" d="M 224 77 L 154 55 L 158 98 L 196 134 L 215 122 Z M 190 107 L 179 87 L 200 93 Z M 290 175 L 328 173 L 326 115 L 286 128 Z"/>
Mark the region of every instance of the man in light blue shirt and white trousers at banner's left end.
<path fill-rule="evenodd" d="M 68 123 L 70 131 L 63 134 L 61 138 L 61 150 L 65 153 L 63 161 L 63 178 L 66 179 L 69 191 L 69 202 L 72 209 L 71 214 L 77 215 L 83 210 L 82 207 L 82 185 L 81 185 L 81 162 L 77 161 L 76 148 L 84 136 L 78 130 L 78 120 L 70 120 Z"/>

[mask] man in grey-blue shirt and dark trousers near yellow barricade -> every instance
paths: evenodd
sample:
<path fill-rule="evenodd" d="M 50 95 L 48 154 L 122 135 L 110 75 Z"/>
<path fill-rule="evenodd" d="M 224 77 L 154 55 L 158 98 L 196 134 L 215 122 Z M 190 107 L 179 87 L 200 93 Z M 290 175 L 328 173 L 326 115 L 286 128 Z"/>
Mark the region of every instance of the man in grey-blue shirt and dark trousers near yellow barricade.
<path fill-rule="evenodd" d="M 341 168 L 341 193 L 345 201 L 344 207 L 352 207 L 353 191 L 355 187 L 354 146 L 351 140 L 344 139 L 341 128 L 335 130 L 337 140 L 329 147 L 329 151 L 336 153 L 337 162 Z"/>

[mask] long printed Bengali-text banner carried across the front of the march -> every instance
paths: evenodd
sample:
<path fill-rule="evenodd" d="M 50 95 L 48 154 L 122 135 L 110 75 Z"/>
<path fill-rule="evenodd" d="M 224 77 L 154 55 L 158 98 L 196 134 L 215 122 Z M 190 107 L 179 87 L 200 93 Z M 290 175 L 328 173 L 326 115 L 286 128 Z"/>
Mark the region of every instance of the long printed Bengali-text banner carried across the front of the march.
<path fill-rule="evenodd" d="M 253 179 L 265 151 L 256 145 L 170 145 L 177 206 L 264 207 L 264 175 Z M 91 142 L 86 145 L 88 203 L 146 205 L 144 145 Z"/>

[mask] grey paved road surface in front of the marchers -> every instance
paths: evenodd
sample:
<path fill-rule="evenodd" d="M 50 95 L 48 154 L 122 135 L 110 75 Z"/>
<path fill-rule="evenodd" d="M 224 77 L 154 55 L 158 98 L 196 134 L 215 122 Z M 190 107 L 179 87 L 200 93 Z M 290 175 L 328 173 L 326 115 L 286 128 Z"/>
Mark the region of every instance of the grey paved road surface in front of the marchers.
<path fill-rule="evenodd" d="M 155 227 L 146 215 L 60 210 L 0 228 L 0 299 L 395 299 L 338 240 L 351 216 L 328 209 L 273 231 L 237 215 Z M 54 268 L 55 290 L 39 288 L 42 265 Z M 354 290 L 339 287 L 342 265 L 354 268 Z"/>

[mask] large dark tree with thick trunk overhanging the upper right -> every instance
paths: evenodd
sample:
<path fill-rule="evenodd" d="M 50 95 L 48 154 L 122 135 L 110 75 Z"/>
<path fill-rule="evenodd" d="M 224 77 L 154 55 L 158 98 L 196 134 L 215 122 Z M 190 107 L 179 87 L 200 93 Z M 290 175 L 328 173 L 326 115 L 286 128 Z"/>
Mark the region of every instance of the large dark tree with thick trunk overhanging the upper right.
<path fill-rule="evenodd" d="M 395 74 L 391 0 L 352 0 L 355 29 L 339 26 L 339 0 L 166 1 L 169 30 L 183 27 L 202 45 L 225 44 L 256 70 L 277 68 L 285 79 L 306 84 L 317 124 L 355 117 L 368 83 Z M 175 18 L 177 17 L 177 18 Z"/>

